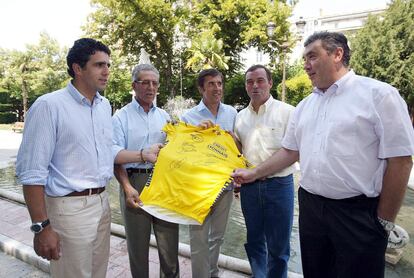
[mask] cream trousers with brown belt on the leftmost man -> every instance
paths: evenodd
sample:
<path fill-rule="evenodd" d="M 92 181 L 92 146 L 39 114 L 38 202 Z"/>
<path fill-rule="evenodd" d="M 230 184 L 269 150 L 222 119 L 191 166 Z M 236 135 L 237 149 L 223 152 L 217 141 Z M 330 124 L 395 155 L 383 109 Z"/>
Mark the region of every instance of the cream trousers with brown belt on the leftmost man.
<path fill-rule="evenodd" d="M 50 261 L 56 278 L 104 278 L 108 267 L 111 211 L 108 193 L 79 197 L 46 196 L 52 228 L 60 236 L 61 257 Z"/>

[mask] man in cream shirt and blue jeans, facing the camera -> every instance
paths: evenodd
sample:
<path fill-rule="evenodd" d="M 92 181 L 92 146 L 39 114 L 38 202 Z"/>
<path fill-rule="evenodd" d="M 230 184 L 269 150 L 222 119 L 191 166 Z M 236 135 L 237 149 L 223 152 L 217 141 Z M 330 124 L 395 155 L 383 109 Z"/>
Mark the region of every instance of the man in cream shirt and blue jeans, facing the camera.
<path fill-rule="evenodd" d="M 269 69 L 254 65 L 245 73 L 249 106 L 236 117 L 234 132 L 242 153 L 259 165 L 282 147 L 293 106 L 270 95 Z M 246 222 L 245 249 L 254 277 L 286 277 L 293 222 L 294 166 L 275 171 L 265 179 L 244 184 L 240 203 Z"/>

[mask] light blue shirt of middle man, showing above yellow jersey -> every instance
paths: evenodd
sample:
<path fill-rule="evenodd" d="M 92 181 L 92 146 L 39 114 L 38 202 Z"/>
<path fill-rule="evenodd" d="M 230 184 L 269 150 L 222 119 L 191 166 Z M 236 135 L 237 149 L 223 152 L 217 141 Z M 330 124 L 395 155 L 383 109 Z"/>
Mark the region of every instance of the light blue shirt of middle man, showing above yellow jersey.
<path fill-rule="evenodd" d="M 236 115 L 237 110 L 234 107 L 220 103 L 217 116 L 214 116 L 201 100 L 197 106 L 184 113 L 181 120 L 192 125 L 199 125 L 204 120 L 210 120 L 224 130 L 233 131 Z"/>

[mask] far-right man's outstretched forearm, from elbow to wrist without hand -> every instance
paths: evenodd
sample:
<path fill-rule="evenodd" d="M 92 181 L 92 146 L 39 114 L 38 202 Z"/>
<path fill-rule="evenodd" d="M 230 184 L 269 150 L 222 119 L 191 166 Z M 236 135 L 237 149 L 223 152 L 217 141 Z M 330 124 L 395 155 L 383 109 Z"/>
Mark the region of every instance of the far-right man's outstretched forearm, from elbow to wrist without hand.
<path fill-rule="evenodd" d="M 279 172 L 299 160 L 299 152 L 281 148 L 255 168 L 258 179 Z"/>

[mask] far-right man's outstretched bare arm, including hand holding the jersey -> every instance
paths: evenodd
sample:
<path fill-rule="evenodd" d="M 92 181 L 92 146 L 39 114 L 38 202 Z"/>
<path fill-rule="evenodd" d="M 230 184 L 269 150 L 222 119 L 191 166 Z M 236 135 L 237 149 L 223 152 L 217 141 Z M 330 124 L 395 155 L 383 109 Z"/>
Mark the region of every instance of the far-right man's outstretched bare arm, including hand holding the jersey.
<path fill-rule="evenodd" d="M 253 169 L 236 169 L 232 176 L 237 183 L 253 182 L 292 165 L 299 160 L 299 152 L 281 148 Z"/>

